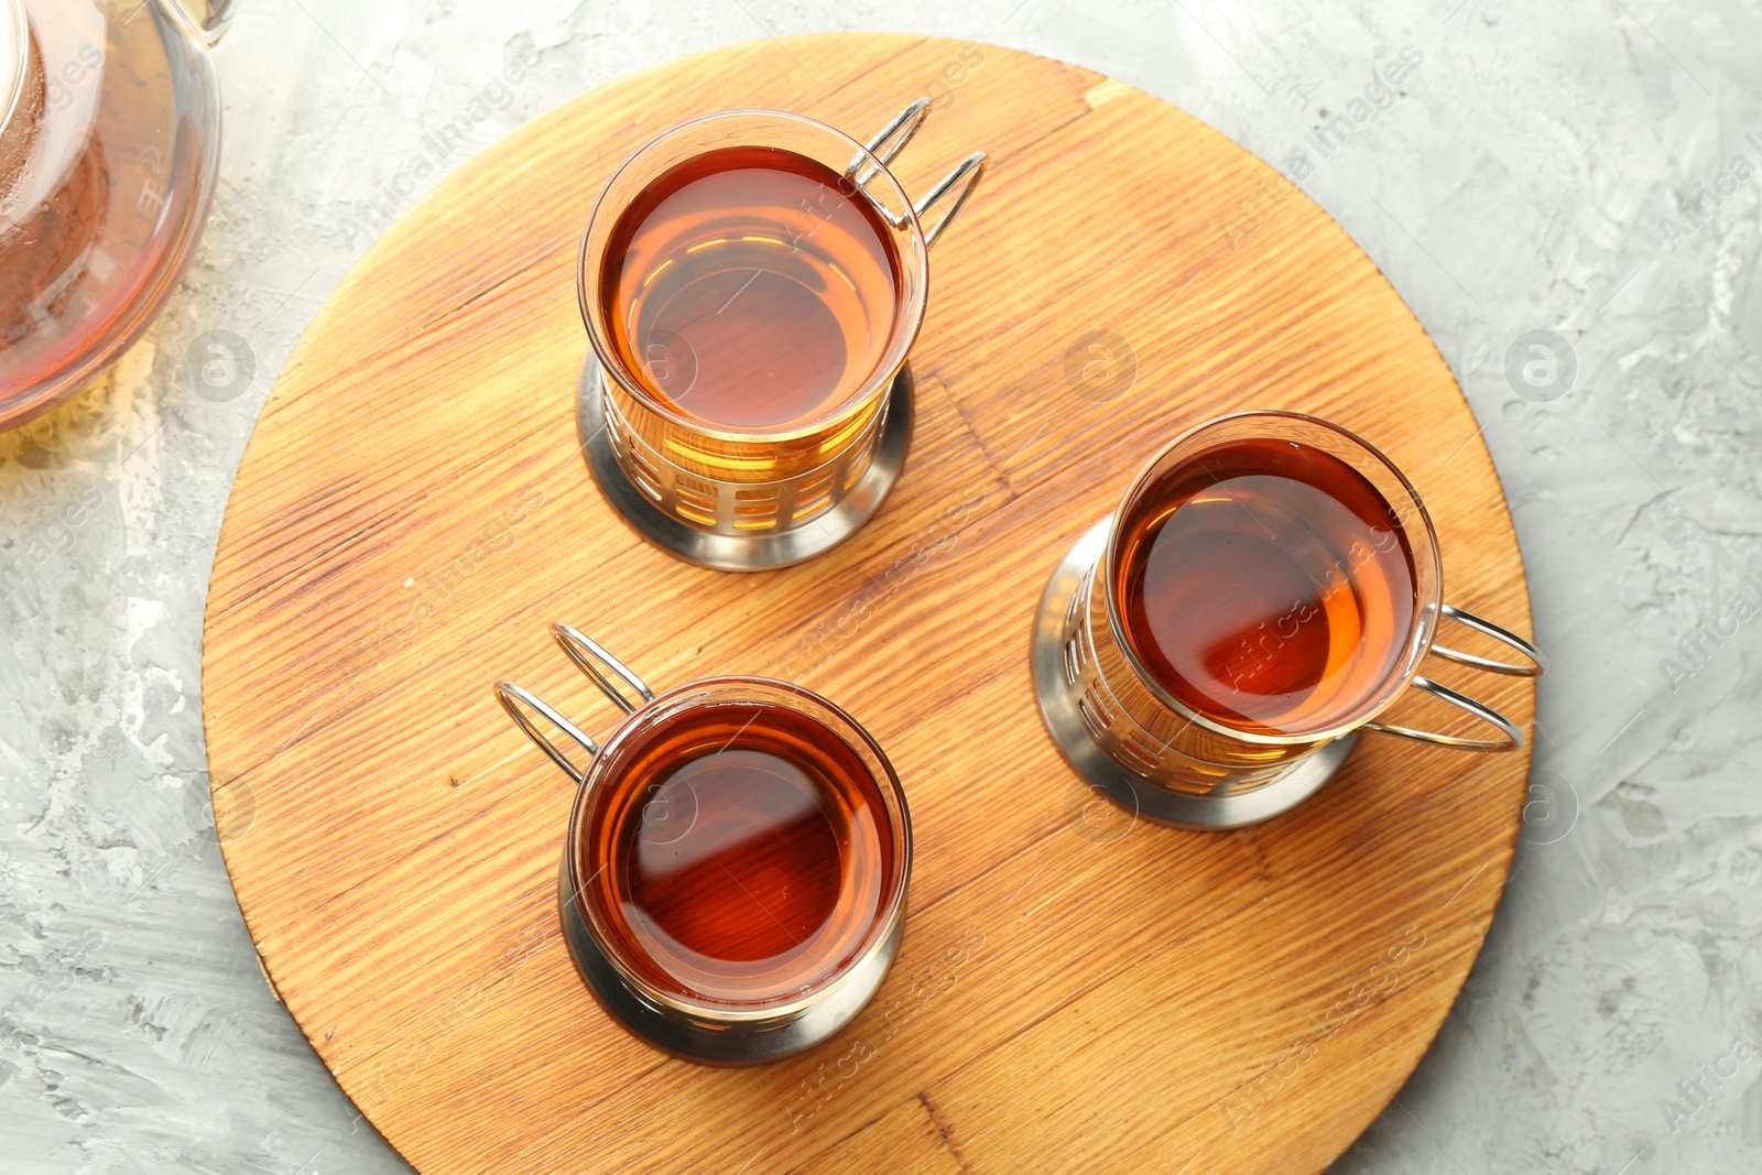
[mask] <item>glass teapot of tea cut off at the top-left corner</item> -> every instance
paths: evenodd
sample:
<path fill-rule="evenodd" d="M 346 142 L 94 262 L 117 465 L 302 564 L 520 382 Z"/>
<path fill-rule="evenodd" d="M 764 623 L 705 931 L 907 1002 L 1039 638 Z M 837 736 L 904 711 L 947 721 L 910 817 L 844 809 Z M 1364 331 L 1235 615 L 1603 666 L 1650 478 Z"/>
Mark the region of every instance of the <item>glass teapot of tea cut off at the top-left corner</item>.
<path fill-rule="evenodd" d="M 233 0 L 0 0 L 0 428 L 141 336 L 208 218 Z"/>

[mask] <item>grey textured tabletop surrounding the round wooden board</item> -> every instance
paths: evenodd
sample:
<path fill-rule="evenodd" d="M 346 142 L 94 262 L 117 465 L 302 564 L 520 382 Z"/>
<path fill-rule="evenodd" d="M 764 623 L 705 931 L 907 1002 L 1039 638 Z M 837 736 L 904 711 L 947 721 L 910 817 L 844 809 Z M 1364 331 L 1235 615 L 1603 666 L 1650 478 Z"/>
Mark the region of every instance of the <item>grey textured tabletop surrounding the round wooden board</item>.
<path fill-rule="evenodd" d="M 1529 819 L 1462 999 L 1336 1170 L 1762 1168 L 1762 4 L 951 7 L 245 2 L 183 289 L 0 435 L 0 565 L 28 573 L 0 588 L 0 1168 L 407 1170 L 264 987 L 206 809 L 233 470 L 326 291 L 470 150 L 828 28 L 1033 49 L 1223 129 L 1369 250 L 1485 423 L 1554 657 Z M 1403 49 L 1404 88 L 1355 107 Z M 509 58 L 536 65 L 497 81 Z M 217 331 L 238 395 L 192 382 Z"/>

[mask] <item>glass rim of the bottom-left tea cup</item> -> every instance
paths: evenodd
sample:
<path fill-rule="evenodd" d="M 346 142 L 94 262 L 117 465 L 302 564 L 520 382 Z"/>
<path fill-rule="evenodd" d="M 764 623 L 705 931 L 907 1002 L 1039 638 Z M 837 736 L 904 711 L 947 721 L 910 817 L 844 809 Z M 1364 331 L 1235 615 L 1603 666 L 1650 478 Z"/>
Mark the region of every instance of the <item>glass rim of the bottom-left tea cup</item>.
<path fill-rule="evenodd" d="M 610 770 L 601 765 L 611 763 L 615 752 L 620 750 L 631 738 L 647 731 L 654 722 L 664 722 L 677 717 L 677 712 L 664 713 L 670 703 L 680 701 L 687 694 L 696 694 L 703 691 L 758 691 L 761 694 L 770 694 L 768 701 L 782 703 L 795 710 L 798 715 L 807 717 L 819 726 L 832 731 L 835 736 L 842 738 L 846 743 L 853 743 L 858 752 L 867 752 L 862 757 L 872 757 L 881 773 L 870 772 L 870 779 L 876 789 L 881 793 L 883 809 L 888 819 L 881 828 L 881 835 L 893 840 L 893 881 L 883 895 L 883 900 L 876 907 L 876 916 L 870 920 L 862 941 L 855 948 L 842 967 L 833 971 L 826 979 L 814 985 L 805 995 L 796 995 L 791 999 L 770 999 L 770 1001 L 712 1001 L 712 999 L 694 999 L 689 995 L 680 995 L 677 992 L 664 992 L 657 988 L 652 981 L 636 974 L 624 957 L 627 951 L 622 942 L 622 935 L 615 934 L 610 927 L 603 923 L 597 916 L 594 904 L 587 898 L 587 883 L 580 879 L 581 863 L 581 837 L 587 833 L 587 814 L 592 807 L 596 794 L 604 794 L 606 787 L 601 782 L 601 775 Z M 816 713 L 814 710 L 798 705 L 807 703 L 807 706 L 816 706 L 830 712 L 833 722 L 826 721 L 826 715 Z M 596 786 L 597 784 L 597 786 Z M 604 861 L 599 872 L 613 868 L 611 861 Z M 604 740 L 599 752 L 587 766 L 587 775 L 576 791 L 574 807 L 569 812 L 569 833 L 564 844 L 564 876 L 569 883 L 569 900 L 574 904 L 576 913 L 581 916 L 589 935 L 594 944 L 606 957 L 606 962 L 618 974 L 618 979 L 633 992 L 641 995 L 641 999 L 670 1009 L 678 1015 L 692 1016 L 696 1020 L 712 1020 L 722 1024 L 770 1024 L 775 1020 L 786 1020 L 795 1016 L 816 1004 L 825 1002 L 835 992 L 839 992 L 848 981 L 853 979 L 876 953 L 886 948 L 888 939 L 899 927 L 906 914 L 906 890 L 911 879 L 911 810 L 906 805 L 906 789 L 899 780 L 899 773 L 893 770 L 892 759 L 881 749 L 862 722 L 853 719 L 842 706 L 826 698 L 816 694 L 814 691 L 796 685 L 793 682 L 782 682 L 770 676 L 756 675 L 719 675 L 703 676 L 685 682 L 684 685 L 675 685 L 666 689 L 652 701 L 645 701 L 641 706 L 624 715 L 617 729 Z M 597 876 L 597 874 L 596 874 Z M 590 879 L 592 881 L 592 879 Z M 663 969 L 664 971 L 664 969 Z"/>

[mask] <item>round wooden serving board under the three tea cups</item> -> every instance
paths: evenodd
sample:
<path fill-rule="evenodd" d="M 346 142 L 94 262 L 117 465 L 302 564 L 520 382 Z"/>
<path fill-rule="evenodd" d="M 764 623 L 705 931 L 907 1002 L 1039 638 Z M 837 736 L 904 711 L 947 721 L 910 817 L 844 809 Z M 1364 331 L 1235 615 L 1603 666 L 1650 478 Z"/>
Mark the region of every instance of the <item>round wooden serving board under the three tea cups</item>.
<path fill-rule="evenodd" d="M 576 447 L 594 197 L 694 115 L 865 137 L 920 93 L 907 188 L 974 148 L 990 169 L 934 250 L 892 499 L 777 573 L 647 546 Z M 1091 331 L 1136 363 L 1110 400 L 1068 377 Z M 208 594 L 227 868 L 312 1046 L 425 1175 L 1327 1166 L 1468 974 L 1528 752 L 1366 736 L 1258 828 L 1098 823 L 1027 669 L 1070 543 L 1168 437 L 1246 407 L 1383 447 L 1429 502 L 1447 595 L 1529 631 L 1498 476 L 1401 298 L 1270 167 L 1126 85 L 937 39 L 763 41 L 599 86 L 460 167 L 287 363 Z M 839 1038 L 708 1069 L 594 1004 L 555 909 L 573 789 L 490 692 L 511 676 L 611 726 L 550 620 L 657 685 L 800 680 L 886 747 L 916 826 L 906 939 Z M 1436 669 L 1529 726 L 1529 682 Z"/>

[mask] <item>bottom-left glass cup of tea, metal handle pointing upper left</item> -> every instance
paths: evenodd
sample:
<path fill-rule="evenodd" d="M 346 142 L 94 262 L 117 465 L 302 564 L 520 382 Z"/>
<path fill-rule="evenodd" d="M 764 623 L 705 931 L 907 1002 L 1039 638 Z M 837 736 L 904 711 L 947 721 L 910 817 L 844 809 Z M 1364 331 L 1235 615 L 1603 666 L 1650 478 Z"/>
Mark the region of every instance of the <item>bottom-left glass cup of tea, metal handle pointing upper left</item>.
<path fill-rule="evenodd" d="M 495 685 L 578 786 L 559 904 L 589 990 L 638 1039 L 705 1064 L 835 1034 L 881 987 L 906 918 L 911 816 L 881 747 L 798 685 L 714 676 L 657 696 L 580 631 L 552 636 L 626 715 L 599 743 Z"/>

